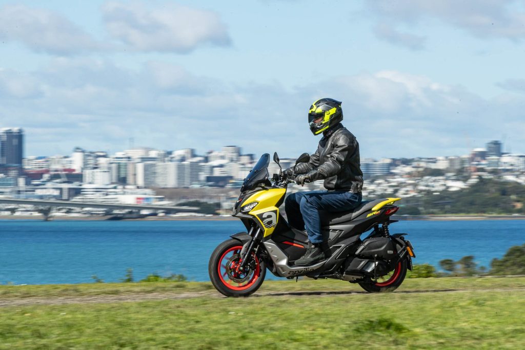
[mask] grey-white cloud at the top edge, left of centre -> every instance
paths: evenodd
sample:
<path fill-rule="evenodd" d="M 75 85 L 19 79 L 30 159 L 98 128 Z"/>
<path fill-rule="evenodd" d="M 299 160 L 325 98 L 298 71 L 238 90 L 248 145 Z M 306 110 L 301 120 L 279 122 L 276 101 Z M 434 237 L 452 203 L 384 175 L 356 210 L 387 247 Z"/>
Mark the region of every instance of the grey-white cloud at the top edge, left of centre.
<path fill-rule="evenodd" d="M 136 50 L 186 53 L 203 44 L 230 44 L 226 26 L 208 10 L 108 2 L 102 12 L 110 35 Z"/>

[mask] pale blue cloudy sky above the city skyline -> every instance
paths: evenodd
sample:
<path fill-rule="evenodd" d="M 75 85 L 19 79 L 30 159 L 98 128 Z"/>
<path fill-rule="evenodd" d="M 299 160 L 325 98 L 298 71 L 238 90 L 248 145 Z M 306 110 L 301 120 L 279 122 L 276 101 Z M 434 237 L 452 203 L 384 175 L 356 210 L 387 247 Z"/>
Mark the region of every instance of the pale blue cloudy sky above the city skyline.
<path fill-rule="evenodd" d="M 525 153 L 525 1 L 0 0 L 0 127 L 25 155 L 296 157 L 314 100 L 361 157 Z"/>

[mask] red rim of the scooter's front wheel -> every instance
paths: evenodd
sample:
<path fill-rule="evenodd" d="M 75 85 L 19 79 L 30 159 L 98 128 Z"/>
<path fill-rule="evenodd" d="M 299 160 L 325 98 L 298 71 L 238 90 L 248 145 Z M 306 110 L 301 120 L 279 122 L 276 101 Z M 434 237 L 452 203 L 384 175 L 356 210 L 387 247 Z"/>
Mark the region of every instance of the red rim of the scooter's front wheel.
<path fill-rule="evenodd" d="M 241 262 L 241 249 L 243 249 L 243 246 L 235 246 L 226 250 L 220 257 L 217 266 L 220 281 L 226 288 L 236 291 L 250 288 L 259 279 L 260 275 L 259 259 L 254 253 L 252 253 L 252 257 L 255 259 L 255 270 L 249 270 L 247 274 L 237 270 Z"/>

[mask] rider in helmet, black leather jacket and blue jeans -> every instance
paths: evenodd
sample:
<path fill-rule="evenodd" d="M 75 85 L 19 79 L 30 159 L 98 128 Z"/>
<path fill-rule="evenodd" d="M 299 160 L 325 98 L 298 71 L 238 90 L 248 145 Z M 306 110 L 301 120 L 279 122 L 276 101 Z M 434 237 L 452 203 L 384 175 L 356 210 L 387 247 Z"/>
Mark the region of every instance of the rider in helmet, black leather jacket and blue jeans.
<path fill-rule="evenodd" d="M 297 192 L 286 198 L 285 210 L 291 226 L 308 233 L 311 244 L 296 260 L 297 266 L 308 266 L 329 256 L 328 237 L 321 234 L 319 211 L 344 211 L 361 204 L 363 173 L 360 168 L 359 143 L 341 124 L 343 110 L 340 101 L 324 98 L 313 102 L 308 113 L 310 130 L 323 134 L 317 151 L 308 163 L 295 167 L 296 183 L 324 179 L 328 191 Z M 285 170 L 291 175 L 292 169 Z"/>

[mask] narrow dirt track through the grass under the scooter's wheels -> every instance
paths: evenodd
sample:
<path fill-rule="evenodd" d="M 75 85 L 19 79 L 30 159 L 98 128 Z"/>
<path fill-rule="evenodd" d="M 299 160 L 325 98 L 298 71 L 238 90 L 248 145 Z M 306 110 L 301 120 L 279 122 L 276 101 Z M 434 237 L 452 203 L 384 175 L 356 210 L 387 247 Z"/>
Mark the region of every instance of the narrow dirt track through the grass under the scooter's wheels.
<path fill-rule="evenodd" d="M 396 294 L 419 294 L 419 293 L 465 293 L 465 292 L 525 292 L 525 288 L 499 288 L 499 289 L 432 289 L 432 290 L 398 290 Z M 293 292 L 261 292 L 255 293 L 250 298 L 261 296 L 334 296 L 369 294 L 364 291 L 293 291 Z M 140 302 L 154 300 L 177 300 L 188 298 L 226 298 L 215 291 L 206 292 L 184 292 L 184 293 L 134 293 L 121 295 L 89 295 L 89 296 L 61 296 L 61 297 L 30 297 L 0 300 L 0 307 L 28 306 L 28 305 L 64 305 L 64 304 L 98 304 L 98 303 L 122 303 Z"/>

